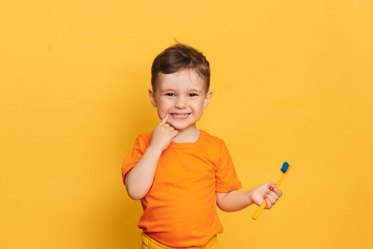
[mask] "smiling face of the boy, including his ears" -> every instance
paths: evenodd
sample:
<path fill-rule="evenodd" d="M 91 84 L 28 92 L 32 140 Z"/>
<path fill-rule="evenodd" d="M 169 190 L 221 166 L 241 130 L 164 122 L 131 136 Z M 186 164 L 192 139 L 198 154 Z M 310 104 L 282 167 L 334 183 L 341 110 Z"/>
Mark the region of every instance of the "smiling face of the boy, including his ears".
<path fill-rule="evenodd" d="M 206 93 L 206 83 L 193 70 L 158 73 L 156 91 L 149 89 L 150 101 L 159 118 L 169 115 L 167 123 L 176 130 L 195 127 L 208 107 L 212 91 Z"/>

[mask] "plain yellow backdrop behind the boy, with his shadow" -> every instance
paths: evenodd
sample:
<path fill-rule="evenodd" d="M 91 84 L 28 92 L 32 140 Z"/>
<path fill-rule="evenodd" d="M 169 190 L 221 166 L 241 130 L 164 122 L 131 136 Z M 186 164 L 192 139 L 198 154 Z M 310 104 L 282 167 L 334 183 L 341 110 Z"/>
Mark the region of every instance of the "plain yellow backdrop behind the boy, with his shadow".
<path fill-rule="evenodd" d="M 154 57 L 174 39 L 211 64 L 200 129 L 244 190 L 223 248 L 373 246 L 372 1 L 2 1 L 0 248 L 138 248 L 120 166 L 158 122 Z"/>

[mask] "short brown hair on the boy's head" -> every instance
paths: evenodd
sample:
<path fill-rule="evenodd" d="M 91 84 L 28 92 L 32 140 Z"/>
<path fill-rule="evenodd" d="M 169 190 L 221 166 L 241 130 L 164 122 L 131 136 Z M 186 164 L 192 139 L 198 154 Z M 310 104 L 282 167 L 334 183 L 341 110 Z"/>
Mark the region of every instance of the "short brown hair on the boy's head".
<path fill-rule="evenodd" d="M 177 43 L 160 53 L 152 64 L 152 88 L 156 91 L 156 75 L 176 73 L 182 69 L 192 69 L 206 83 L 206 93 L 210 88 L 210 63 L 199 50 Z"/>

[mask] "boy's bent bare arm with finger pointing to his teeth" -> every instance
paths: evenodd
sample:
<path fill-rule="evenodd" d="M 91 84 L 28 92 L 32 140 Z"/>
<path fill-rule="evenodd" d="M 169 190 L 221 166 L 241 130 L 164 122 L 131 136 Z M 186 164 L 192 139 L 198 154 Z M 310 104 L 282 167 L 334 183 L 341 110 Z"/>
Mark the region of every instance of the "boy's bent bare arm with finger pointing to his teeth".
<path fill-rule="evenodd" d="M 152 187 L 154 174 L 162 151 L 167 149 L 172 138 L 177 136 L 178 131 L 167 124 L 166 115 L 159 122 L 152 133 L 149 147 L 145 150 L 138 163 L 125 176 L 127 193 L 131 199 L 140 200 Z"/>

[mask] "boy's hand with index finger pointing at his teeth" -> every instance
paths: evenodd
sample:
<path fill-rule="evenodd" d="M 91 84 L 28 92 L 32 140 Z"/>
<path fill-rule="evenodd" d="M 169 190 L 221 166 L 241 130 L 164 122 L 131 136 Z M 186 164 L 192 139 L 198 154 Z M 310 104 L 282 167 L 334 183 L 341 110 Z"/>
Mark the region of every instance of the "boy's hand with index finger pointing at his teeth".
<path fill-rule="evenodd" d="M 164 151 L 170 145 L 172 139 L 179 133 L 174 127 L 167 124 L 168 117 L 167 114 L 154 128 L 149 147 Z"/>

